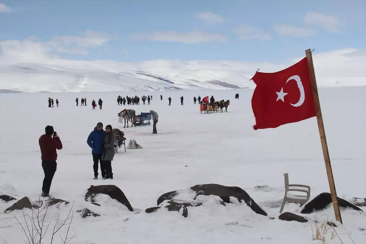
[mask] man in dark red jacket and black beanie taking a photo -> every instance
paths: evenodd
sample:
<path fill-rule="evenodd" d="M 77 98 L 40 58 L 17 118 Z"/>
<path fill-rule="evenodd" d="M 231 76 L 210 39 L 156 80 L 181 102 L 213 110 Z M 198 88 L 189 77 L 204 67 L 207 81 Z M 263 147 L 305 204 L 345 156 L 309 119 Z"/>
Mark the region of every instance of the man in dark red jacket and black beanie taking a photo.
<path fill-rule="evenodd" d="M 41 148 L 42 168 L 45 173 L 41 196 L 49 197 L 49 189 L 51 188 L 52 179 L 55 175 L 57 168 L 56 149 L 61 150 L 62 143 L 59 136 L 57 135 L 57 132 L 53 130 L 53 127 L 51 125 L 46 126 L 45 134 L 41 135 L 38 142 Z"/>

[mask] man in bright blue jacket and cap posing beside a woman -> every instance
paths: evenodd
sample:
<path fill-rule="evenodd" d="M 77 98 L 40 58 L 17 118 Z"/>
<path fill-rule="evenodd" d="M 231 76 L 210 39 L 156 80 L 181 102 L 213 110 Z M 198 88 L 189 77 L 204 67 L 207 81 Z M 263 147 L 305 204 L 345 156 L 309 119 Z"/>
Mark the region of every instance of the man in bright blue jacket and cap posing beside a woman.
<path fill-rule="evenodd" d="M 105 179 L 105 168 L 102 160 L 102 143 L 104 140 L 103 123 L 99 122 L 92 132 L 90 132 L 86 142 L 91 148 L 91 154 L 93 155 L 93 169 L 94 180 L 98 179 L 98 161 L 100 162 L 100 171 L 102 178 Z"/>

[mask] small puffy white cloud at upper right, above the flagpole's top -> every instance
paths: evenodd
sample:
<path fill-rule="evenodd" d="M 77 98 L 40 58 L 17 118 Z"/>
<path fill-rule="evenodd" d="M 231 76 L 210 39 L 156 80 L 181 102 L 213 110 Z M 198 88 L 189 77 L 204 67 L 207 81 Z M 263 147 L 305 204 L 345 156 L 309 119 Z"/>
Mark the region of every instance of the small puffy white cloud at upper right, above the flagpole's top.
<path fill-rule="evenodd" d="M 304 23 L 306 25 L 320 26 L 325 30 L 340 33 L 340 28 L 344 26 L 335 16 L 329 16 L 310 12 L 305 15 Z"/>

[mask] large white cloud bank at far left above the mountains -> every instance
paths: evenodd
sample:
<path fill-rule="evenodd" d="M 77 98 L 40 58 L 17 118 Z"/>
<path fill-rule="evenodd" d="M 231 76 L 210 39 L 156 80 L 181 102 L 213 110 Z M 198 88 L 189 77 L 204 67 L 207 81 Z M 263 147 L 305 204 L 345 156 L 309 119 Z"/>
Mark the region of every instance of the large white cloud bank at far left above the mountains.
<path fill-rule="evenodd" d="M 109 41 L 104 33 L 88 30 L 83 37 L 79 36 L 54 36 L 47 42 L 37 42 L 35 38 L 26 38 L 22 41 L 7 40 L 0 42 L 1 60 L 17 62 L 22 60 L 45 60 L 57 58 L 57 53 L 71 53 L 87 55 L 89 49 L 102 46 Z"/>

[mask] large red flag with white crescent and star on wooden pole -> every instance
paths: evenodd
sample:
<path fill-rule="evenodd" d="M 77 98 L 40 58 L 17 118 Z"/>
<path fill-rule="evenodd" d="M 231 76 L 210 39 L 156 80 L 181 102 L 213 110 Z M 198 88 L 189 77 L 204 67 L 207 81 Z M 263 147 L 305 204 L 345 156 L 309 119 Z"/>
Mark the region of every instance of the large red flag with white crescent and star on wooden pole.
<path fill-rule="evenodd" d="M 275 73 L 256 72 L 251 100 L 254 129 L 276 128 L 316 116 L 306 57 Z"/>

